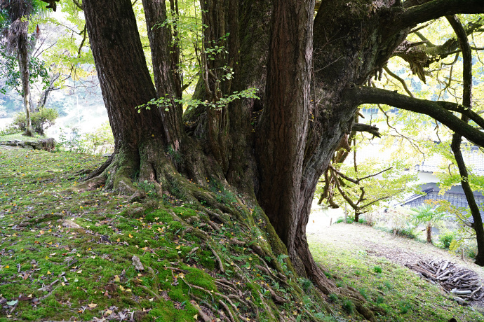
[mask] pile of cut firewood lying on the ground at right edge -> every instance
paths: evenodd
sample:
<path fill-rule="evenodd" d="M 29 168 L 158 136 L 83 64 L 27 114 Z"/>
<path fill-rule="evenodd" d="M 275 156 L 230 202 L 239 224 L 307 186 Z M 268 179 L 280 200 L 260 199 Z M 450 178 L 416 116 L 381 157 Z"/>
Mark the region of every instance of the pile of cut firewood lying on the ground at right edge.
<path fill-rule="evenodd" d="M 484 298 L 484 288 L 479 276 L 469 269 L 456 267 L 448 260 L 419 260 L 417 264 L 408 267 L 432 283 L 440 284 L 445 291 L 452 293 L 462 302 L 479 301 Z"/>

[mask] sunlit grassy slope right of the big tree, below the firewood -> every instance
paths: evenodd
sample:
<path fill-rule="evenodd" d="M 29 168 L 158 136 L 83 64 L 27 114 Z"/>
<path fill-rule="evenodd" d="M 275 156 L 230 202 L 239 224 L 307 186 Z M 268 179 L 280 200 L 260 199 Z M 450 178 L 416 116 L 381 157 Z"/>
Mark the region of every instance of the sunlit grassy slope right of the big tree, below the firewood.
<path fill-rule="evenodd" d="M 440 287 L 421 279 L 407 267 L 368 255 L 358 247 L 316 244 L 316 240 L 309 237 L 311 251 L 327 269 L 326 274 L 338 286 L 356 288 L 368 302 L 382 309 L 379 321 L 446 322 L 452 317 L 462 322 L 484 321 L 484 316 L 476 310 L 457 304 Z M 345 308 L 344 300 L 333 299 Z"/>

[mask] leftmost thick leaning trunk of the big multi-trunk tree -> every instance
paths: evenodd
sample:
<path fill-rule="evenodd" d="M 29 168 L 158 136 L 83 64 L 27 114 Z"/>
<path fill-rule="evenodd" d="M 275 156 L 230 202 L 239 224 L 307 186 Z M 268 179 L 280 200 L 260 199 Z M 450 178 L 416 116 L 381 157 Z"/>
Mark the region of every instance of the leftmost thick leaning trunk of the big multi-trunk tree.
<path fill-rule="evenodd" d="M 107 186 L 134 193 L 135 174 L 156 182 L 152 162 L 168 142 L 159 109 L 142 109 L 156 90 L 149 75 L 129 0 L 84 1 L 84 13 L 102 90 L 114 134 L 114 160 L 105 172 Z"/>

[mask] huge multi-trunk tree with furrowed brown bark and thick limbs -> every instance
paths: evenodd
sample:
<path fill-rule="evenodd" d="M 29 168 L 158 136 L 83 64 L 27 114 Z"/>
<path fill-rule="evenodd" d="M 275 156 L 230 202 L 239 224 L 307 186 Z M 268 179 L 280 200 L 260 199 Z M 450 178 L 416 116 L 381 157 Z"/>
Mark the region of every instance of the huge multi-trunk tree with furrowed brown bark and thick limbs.
<path fill-rule="evenodd" d="M 314 262 L 306 225 L 318 179 L 351 132 L 358 106 L 424 113 L 484 144 L 484 133 L 457 116 L 484 125 L 468 106 L 365 86 L 390 57 L 411 51 L 405 39 L 417 25 L 484 13 L 481 0 L 333 0 L 317 3 L 316 11 L 314 0 L 201 1 L 201 75 L 194 93 L 200 104 L 185 112 L 176 30 L 163 24 L 166 3 L 142 3 L 154 83 L 132 3 L 81 4 L 116 142 L 112 158 L 87 184 L 135 194 L 133 181 L 147 180 L 159 193 L 183 187 L 192 202 L 216 208 L 220 204 L 192 184 L 206 186 L 208 177 L 215 178 L 247 204 L 262 207 L 297 274 L 311 277 L 325 293 L 337 287 Z M 424 58 L 439 59 L 424 54 L 405 58 L 417 66 Z M 227 99 L 253 87 L 260 99 Z M 148 103 L 149 109 L 139 108 Z"/>

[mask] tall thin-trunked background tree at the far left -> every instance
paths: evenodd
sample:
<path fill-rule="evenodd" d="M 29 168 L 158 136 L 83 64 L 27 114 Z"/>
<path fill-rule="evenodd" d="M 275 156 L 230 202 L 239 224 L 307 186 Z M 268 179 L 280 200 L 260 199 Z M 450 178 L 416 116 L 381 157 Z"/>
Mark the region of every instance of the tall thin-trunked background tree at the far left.
<path fill-rule="evenodd" d="M 17 56 L 22 80 L 22 99 L 25 106 L 27 118 L 26 134 L 32 136 L 32 123 L 30 120 L 30 72 L 29 72 L 29 50 L 31 39 L 29 36 L 29 20 L 36 13 L 45 12 L 45 3 L 37 0 L 1 0 L 0 10 L 6 16 L 6 48 Z M 37 27 L 32 37 L 39 34 Z"/>

